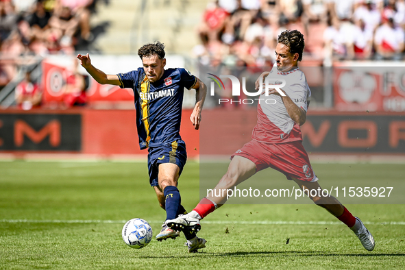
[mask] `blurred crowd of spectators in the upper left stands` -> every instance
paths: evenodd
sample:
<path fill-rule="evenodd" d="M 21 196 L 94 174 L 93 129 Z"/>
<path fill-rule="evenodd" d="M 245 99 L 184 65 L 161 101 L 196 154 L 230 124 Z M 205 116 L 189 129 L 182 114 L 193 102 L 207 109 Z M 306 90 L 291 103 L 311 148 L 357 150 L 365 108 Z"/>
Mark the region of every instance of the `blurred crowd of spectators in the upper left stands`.
<path fill-rule="evenodd" d="M 93 41 L 96 0 L 0 0 L 0 85 L 16 75 L 20 56 L 74 53 Z"/>

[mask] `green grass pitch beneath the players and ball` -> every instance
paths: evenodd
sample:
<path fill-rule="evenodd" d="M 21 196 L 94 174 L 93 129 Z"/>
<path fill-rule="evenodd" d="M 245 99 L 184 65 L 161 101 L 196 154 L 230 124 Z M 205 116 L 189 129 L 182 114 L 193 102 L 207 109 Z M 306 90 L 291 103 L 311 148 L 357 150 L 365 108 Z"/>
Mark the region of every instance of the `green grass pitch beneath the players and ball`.
<path fill-rule="evenodd" d="M 352 164 L 381 177 L 403 164 Z M 347 164 L 315 164 L 322 178 Z M 241 224 L 233 221 L 336 221 L 312 204 L 227 205 L 204 219 L 206 249 L 188 254 L 184 237 L 144 249 L 121 238 L 123 222 L 141 217 L 160 230 L 164 211 L 136 162 L 0 162 L 0 269 L 404 269 L 404 205 L 348 205 L 372 224 L 376 249 L 366 251 L 345 225 Z M 199 201 L 199 164 L 180 180 L 187 209 Z M 347 173 L 345 177 L 362 174 Z M 284 177 L 280 174 L 280 180 Z M 350 178 L 347 180 L 350 181 Z M 69 222 L 66 222 L 69 221 Z M 80 223 L 90 221 L 89 223 Z M 108 223 L 110 222 L 110 223 Z M 289 243 L 286 240 L 289 238 Z"/>

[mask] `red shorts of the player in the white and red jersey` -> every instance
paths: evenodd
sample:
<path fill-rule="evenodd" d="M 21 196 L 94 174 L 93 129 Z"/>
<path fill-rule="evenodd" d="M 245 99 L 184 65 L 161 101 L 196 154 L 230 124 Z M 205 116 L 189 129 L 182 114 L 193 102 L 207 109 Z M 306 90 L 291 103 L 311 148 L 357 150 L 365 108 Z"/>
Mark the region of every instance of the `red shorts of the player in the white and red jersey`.
<path fill-rule="evenodd" d="M 254 162 L 256 172 L 271 167 L 284 173 L 288 180 L 296 178 L 308 182 L 318 181 L 317 175 L 312 170 L 308 154 L 299 140 L 279 144 L 251 140 L 236 151 L 231 159 L 234 156 L 242 156 Z"/>

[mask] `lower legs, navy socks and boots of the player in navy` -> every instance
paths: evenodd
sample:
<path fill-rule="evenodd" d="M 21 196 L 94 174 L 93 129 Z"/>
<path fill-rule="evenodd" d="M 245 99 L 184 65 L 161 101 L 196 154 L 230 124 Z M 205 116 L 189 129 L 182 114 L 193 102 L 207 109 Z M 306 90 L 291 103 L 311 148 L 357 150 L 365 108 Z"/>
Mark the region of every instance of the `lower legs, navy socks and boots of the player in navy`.
<path fill-rule="evenodd" d="M 156 195 L 158 195 L 160 206 L 164 206 L 166 210 L 166 220 L 175 219 L 179 216 L 179 214 L 186 213 L 186 210 L 181 204 L 182 199 L 180 197 L 180 191 L 177 189 L 179 172 L 180 168 L 176 164 L 159 164 L 159 186 L 155 188 L 155 191 Z M 160 190 L 163 192 L 160 192 Z M 166 228 L 164 228 L 164 226 L 166 226 Z M 180 234 L 178 230 L 172 230 L 171 228 L 168 228 L 166 224 L 163 225 L 160 234 L 164 234 L 164 231 L 171 231 L 175 233 L 175 237 L 179 236 Z M 195 232 L 184 232 L 184 236 L 187 240 L 186 245 L 189 252 L 195 252 L 197 249 L 205 247 L 206 240 L 203 238 L 198 238 Z M 156 236 L 156 238 L 158 238 L 158 236 Z"/>

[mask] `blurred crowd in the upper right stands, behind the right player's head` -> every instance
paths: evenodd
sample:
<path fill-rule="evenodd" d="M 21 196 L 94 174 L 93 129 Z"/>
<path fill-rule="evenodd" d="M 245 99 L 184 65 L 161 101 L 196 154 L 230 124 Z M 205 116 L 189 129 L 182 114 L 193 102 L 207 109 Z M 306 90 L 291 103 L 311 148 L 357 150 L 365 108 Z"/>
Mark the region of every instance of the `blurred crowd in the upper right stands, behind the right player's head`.
<path fill-rule="evenodd" d="M 217 0 L 193 53 L 204 66 L 269 66 L 278 35 L 298 29 L 304 60 L 402 60 L 405 0 Z"/>

